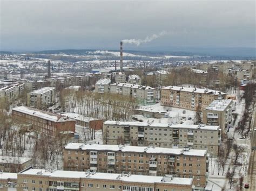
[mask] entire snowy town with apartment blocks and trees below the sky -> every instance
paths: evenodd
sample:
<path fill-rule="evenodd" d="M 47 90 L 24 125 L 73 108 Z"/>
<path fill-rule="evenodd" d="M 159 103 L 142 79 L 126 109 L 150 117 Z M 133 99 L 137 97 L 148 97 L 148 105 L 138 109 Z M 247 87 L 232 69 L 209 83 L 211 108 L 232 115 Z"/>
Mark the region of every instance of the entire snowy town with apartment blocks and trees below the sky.
<path fill-rule="evenodd" d="M 254 60 L 141 56 L 122 44 L 0 59 L 3 190 L 255 185 Z"/>

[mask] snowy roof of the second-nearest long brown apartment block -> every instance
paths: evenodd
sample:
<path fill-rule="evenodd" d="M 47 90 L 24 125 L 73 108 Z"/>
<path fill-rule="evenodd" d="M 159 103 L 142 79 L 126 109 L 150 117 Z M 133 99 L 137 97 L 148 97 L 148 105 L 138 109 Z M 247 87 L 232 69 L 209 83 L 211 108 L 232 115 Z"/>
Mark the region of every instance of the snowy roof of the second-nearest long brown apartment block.
<path fill-rule="evenodd" d="M 190 149 L 185 151 L 184 148 L 164 148 L 153 146 L 129 146 L 129 145 L 99 145 L 99 144 L 83 144 L 69 143 L 65 146 L 67 150 L 90 150 L 90 151 L 122 151 L 122 152 L 138 152 L 138 153 L 161 153 L 161 154 L 185 154 L 204 157 L 206 150 Z"/>

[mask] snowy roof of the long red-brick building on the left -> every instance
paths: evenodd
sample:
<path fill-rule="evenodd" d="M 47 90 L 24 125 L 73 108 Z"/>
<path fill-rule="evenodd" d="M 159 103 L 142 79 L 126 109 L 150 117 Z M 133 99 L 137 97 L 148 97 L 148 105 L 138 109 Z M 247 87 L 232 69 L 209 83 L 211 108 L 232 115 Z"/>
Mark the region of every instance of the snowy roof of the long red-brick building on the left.
<path fill-rule="evenodd" d="M 46 119 L 46 120 L 52 121 L 52 122 L 75 121 L 74 119 L 70 119 L 68 117 L 63 117 L 63 116 L 58 115 L 58 114 L 53 114 L 51 112 L 38 110 L 38 109 L 35 109 L 35 108 L 30 108 L 30 107 L 25 107 L 25 106 L 17 107 L 17 108 L 14 108 L 12 110 L 22 112 L 24 114 L 28 114 L 28 115 L 31 115 L 31 116 L 36 116 L 36 117 L 39 117 L 39 118 L 43 118 L 43 119 Z"/>

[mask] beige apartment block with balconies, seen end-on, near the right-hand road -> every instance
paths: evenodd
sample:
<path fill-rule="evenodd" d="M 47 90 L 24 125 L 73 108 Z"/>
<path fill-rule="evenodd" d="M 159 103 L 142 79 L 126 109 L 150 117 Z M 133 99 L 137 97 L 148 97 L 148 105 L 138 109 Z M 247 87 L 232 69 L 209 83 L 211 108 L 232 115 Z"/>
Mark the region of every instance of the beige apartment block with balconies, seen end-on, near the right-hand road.
<path fill-rule="evenodd" d="M 232 100 L 214 100 L 203 110 L 203 123 L 219 125 L 221 132 L 227 132 L 228 125 L 232 122 Z"/>

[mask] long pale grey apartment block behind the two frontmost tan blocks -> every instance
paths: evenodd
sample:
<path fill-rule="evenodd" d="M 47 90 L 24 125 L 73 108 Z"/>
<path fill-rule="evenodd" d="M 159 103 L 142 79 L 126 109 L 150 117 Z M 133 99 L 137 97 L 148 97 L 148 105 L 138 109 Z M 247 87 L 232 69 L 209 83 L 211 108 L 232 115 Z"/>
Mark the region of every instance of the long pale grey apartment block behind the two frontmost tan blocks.
<path fill-rule="evenodd" d="M 218 155 L 220 139 L 220 127 L 211 125 L 117 121 L 105 121 L 103 125 L 103 143 L 108 145 L 191 147 Z"/>

